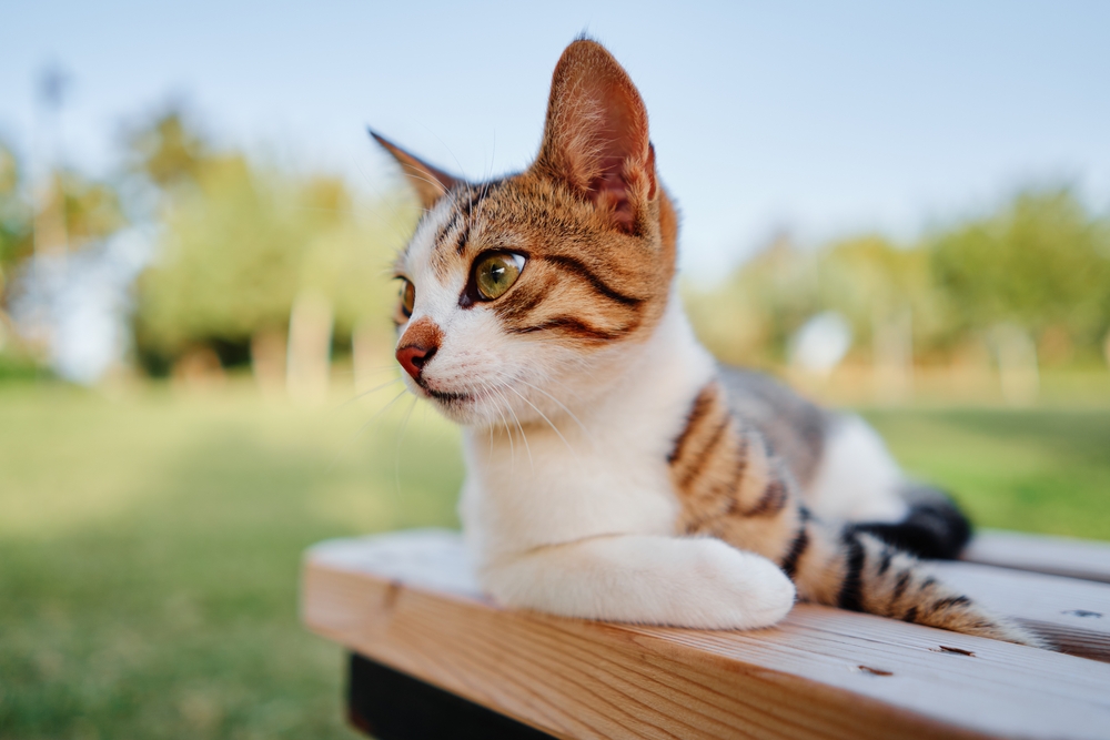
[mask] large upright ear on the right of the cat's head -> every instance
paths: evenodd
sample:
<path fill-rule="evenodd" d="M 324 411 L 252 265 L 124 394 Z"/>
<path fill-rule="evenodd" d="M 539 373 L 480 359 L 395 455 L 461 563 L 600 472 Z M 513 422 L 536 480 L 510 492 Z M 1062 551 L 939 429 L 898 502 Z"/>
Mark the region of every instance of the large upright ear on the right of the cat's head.
<path fill-rule="evenodd" d="M 533 166 L 561 178 L 629 233 L 637 209 L 658 192 L 647 109 L 628 73 L 596 41 L 574 41 L 559 58 Z"/>

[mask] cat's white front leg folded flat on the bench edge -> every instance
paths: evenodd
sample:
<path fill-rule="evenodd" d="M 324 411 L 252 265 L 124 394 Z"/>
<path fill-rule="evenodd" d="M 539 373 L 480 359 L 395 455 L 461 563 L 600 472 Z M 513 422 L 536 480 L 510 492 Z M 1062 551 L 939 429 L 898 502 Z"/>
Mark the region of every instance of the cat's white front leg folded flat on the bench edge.
<path fill-rule="evenodd" d="M 509 607 L 703 629 L 774 625 L 795 598 L 770 560 L 709 538 L 593 537 L 504 556 L 481 578 Z"/>

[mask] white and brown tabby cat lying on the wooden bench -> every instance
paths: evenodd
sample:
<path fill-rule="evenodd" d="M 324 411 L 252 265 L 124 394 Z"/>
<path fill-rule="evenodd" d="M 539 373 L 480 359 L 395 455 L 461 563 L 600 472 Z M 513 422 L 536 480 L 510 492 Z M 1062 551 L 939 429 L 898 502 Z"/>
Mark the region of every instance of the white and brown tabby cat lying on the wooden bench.
<path fill-rule="evenodd" d="M 1041 645 L 922 570 L 970 527 L 865 422 L 698 344 L 647 111 L 604 47 L 564 51 L 518 174 L 470 183 L 371 134 L 424 207 L 396 358 L 465 429 L 460 514 L 495 601 L 750 629 L 800 598 Z"/>

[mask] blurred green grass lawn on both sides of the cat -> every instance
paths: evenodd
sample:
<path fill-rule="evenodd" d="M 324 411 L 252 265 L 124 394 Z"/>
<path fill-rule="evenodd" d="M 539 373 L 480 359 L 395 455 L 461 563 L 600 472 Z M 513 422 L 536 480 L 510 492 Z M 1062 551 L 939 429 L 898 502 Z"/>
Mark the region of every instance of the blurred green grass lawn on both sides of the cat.
<path fill-rule="evenodd" d="M 311 543 L 454 525 L 455 433 L 423 408 L 243 388 L 110 399 L 0 384 L 0 737 L 355 737 L 341 651 L 301 628 Z M 1110 412 L 868 413 L 981 524 L 1110 538 Z"/>

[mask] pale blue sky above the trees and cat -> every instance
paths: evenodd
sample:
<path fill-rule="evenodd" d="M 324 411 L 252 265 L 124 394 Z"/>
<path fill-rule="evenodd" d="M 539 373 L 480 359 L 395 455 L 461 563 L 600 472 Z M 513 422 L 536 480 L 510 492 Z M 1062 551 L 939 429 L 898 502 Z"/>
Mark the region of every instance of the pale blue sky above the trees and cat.
<path fill-rule="evenodd" d="M 723 274 L 781 230 L 908 241 L 1030 184 L 1110 204 L 1107 2 L 2 8 L 0 139 L 36 161 L 59 142 L 93 174 L 122 126 L 174 100 L 222 143 L 373 194 L 400 179 L 366 125 L 471 179 L 519 170 L 555 62 L 585 31 L 647 103 L 687 274 Z M 36 92 L 50 65 L 70 80 L 56 129 Z"/>

